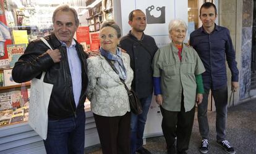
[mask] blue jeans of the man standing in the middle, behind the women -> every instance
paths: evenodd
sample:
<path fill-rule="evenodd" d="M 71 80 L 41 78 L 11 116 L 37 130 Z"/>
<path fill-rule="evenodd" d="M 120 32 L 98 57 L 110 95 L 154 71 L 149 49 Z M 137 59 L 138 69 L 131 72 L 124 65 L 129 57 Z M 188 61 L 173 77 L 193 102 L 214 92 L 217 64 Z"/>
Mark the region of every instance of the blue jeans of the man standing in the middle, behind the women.
<path fill-rule="evenodd" d="M 143 112 L 140 115 L 132 113 L 130 121 L 130 153 L 134 154 L 136 150 L 142 148 L 143 132 L 147 121 L 148 109 L 151 104 L 152 95 L 140 99 Z"/>

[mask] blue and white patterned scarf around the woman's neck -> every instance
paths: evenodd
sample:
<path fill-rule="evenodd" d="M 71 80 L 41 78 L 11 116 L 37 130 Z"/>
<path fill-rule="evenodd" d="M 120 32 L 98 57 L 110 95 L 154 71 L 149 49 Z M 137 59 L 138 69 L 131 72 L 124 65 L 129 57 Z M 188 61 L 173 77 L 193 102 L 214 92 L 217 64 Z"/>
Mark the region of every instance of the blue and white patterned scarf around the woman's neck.
<path fill-rule="evenodd" d="M 119 72 L 119 78 L 126 80 L 127 72 L 126 68 L 124 67 L 124 63 L 122 62 L 121 55 L 122 52 L 117 47 L 116 55 L 111 54 L 109 51 L 105 51 L 102 47 L 100 48 L 100 54 L 103 55 L 106 59 L 114 61 L 114 67 L 116 67 L 117 71 Z"/>

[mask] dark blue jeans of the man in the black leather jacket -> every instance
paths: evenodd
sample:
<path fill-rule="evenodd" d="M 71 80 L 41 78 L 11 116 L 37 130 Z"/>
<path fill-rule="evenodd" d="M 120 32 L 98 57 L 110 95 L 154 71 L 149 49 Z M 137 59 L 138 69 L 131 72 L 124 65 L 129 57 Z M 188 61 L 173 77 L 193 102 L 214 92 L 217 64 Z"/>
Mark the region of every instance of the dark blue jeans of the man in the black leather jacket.
<path fill-rule="evenodd" d="M 85 147 L 85 112 L 62 120 L 48 120 L 46 152 L 54 154 L 83 153 Z"/>

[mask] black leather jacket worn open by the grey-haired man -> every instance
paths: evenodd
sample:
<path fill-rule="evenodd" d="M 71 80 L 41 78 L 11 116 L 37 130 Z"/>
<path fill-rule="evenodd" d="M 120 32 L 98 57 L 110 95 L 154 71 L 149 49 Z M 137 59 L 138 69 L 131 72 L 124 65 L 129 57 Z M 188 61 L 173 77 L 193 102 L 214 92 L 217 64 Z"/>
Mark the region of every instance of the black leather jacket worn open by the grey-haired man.
<path fill-rule="evenodd" d="M 61 62 L 54 63 L 53 59 L 46 53 L 49 47 L 41 39 L 36 39 L 28 44 L 24 54 L 15 63 L 12 70 L 12 78 L 17 83 L 23 83 L 33 78 L 40 79 L 42 71 L 46 71 L 44 82 L 53 84 L 48 107 L 49 118 L 62 119 L 74 116 L 76 113 L 84 111 L 83 103 L 85 102 L 85 90 L 88 85 L 87 54 L 83 52 L 82 46 L 76 42 L 75 48 L 82 68 L 82 91 L 79 105 L 76 108 L 66 46 L 61 46 L 54 34 L 46 36 L 45 39 L 53 49 L 59 49 Z"/>

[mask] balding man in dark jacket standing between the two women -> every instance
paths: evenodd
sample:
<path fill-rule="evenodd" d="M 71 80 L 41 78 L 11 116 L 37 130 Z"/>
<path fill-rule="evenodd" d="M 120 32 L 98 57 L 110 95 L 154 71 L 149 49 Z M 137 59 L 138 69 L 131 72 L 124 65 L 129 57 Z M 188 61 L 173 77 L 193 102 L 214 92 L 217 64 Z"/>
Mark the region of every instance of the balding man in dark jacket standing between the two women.
<path fill-rule="evenodd" d="M 142 147 L 142 137 L 153 93 L 153 70 L 151 64 L 158 47 L 151 36 L 143 33 L 147 22 L 142 10 L 132 10 L 130 12 L 129 25 L 132 30 L 121 39 L 120 46 L 130 55 L 130 67 L 134 70 L 132 89 L 138 94 L 143 108 L 142 114 L 132 114 L 130 147 L 132 154 L 135 152 L 150 153 Z"/>

